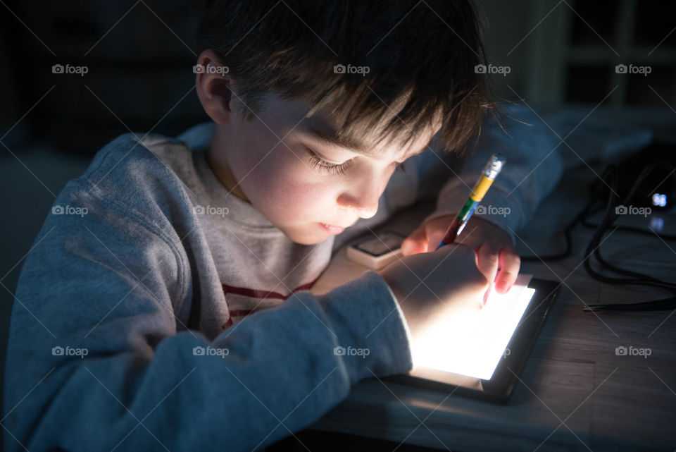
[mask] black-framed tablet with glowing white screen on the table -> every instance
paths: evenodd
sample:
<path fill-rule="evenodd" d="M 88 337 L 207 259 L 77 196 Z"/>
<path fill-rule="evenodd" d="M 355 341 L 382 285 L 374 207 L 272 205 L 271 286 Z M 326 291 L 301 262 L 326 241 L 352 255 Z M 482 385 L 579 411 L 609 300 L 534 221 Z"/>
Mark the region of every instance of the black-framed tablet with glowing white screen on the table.
<path fill-rule="evenodd" d="M 555 281 L 520 275 L 509 293 L 492 293 L 483 310 L 449 310 L 436 319 L 441 327 L 412 344 L 415 368 L 387 379 L 507 403 L 559 289 Z"/>

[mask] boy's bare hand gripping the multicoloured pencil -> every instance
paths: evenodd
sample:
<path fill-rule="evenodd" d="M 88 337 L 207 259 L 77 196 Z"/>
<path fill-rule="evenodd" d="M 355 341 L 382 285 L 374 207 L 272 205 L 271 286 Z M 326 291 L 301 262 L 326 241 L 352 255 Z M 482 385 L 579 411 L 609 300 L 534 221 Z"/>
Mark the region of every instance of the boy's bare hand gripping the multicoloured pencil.
<path fill-rule="evenodd" d="M 403 255 L 433 251 L 444 238 L 446 229 L 451 226 L 454 218 L 455 215 L 439 216 L 413 231 L 401 244 Z M 509 291 L 519 274 L 521 259 L 508 233 L 490 221 L 474 215 L 456 243 L 463 243 L 476 251 L 478 267 L 488 281 L 495 281 L 496 291 Z"/>

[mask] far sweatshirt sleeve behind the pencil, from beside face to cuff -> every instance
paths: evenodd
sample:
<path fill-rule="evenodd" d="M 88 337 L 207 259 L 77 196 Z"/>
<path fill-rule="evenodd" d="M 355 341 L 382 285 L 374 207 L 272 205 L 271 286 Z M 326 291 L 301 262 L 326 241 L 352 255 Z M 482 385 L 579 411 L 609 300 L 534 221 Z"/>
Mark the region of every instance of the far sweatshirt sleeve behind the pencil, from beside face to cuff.
<path fill-rule="evenodd" d="M 502 111 L 504 130 L 495 118 L 488 118 L 477 145 L 468 145 L 462 157 L 439 147 L 435 137 L 425 152 L 406 160 L 403 169 L 394 172 L 376 217 L 360 223 L 380 224 L 418 200 L 437 200 L 434 212 L 423 223 L 439 216 L 454 216 L 467 201 L 488 159 L 500 152 L 507 163 L 481 202 L 492 209 L 485 209 L 480 216 L 507 231 L 513 240 L 509 229 L 518 231 L 525 226 L 539 202 L 558 183 L 563 164 L 559 140 L 530 109 L 517 105 L 503 107 Z"/>

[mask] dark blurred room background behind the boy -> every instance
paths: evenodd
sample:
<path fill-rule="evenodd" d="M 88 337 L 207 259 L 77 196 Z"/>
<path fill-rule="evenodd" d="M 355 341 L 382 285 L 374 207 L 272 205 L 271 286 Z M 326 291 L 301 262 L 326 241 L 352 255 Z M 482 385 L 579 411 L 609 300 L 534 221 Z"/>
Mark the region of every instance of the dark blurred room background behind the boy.
<path fill-rule="evenodd" d="M 599 111 L 674 138 L 673 2 L 480 4 L 490 25 L 489 61 L 511 68 L 494 77 L 502 97 L 526 99 L 536 109 L 576 104 L 589 110 L 600 103 Z M 177 135 L 208 119 L 194 91 L 192 65 L 201 51 L 195 28 L 192 1 L 0 3 L 3 352 L 23 258 L 65 182 L 117 135 Z M 618 74 L 619 63 L 649 65 L 651 73 Z M 55 74 L 54 64 L 87 66 L 88 72 Z M 0 362 L 4 367 L 4 358 Z"/>

